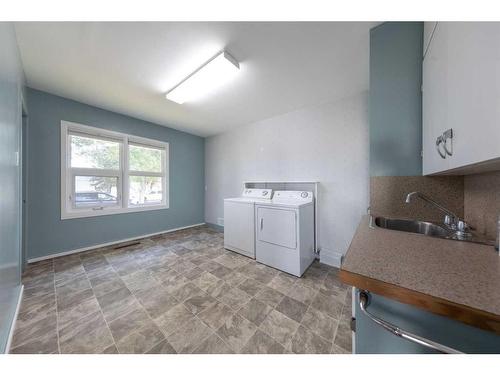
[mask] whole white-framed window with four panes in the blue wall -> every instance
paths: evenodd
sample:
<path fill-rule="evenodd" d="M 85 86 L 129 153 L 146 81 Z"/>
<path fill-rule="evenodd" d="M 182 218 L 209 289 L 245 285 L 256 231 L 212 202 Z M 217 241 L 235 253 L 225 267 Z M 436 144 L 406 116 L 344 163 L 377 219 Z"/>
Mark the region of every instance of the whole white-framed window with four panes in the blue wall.
<path fill-rule="evenodd" d="M 61 218 L 168 208 L 168 143 L 61 122 Z"/>

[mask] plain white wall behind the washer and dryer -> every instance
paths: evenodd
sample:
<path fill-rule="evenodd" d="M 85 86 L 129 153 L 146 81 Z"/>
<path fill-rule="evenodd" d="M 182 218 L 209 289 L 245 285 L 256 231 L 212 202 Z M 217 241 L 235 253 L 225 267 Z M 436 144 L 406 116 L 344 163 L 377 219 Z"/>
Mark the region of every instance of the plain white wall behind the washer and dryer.
<path fill-rule="evenodd" d="M 243 181 L 319 181 L 321 261 L 338 262 L 368 207 L 368 94 L 276 116 L 205 141 L 205 221 Z"/>

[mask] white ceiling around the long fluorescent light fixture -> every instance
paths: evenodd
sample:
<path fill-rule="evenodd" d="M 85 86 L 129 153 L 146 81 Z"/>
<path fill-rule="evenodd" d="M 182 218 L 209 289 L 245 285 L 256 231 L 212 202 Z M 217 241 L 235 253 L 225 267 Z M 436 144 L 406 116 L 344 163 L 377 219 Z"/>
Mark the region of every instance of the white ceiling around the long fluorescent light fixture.
<path fill-rule="evenodd" d="M 28 86 L 209 136 L 368 89 L 374 23 L 16 23 Z M 241 72 L 182 105 L 165 92 L 218 51 Z"/>

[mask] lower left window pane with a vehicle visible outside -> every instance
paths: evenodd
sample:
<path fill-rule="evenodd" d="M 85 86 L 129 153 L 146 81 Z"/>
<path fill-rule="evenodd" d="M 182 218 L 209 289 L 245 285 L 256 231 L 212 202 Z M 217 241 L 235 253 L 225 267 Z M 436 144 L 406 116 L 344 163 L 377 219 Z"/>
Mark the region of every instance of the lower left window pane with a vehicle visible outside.
<path fill-rule="evenodd" d="M 118 204 L 118 178 L 75 176 L 75 207 L 114 206 Z"/>

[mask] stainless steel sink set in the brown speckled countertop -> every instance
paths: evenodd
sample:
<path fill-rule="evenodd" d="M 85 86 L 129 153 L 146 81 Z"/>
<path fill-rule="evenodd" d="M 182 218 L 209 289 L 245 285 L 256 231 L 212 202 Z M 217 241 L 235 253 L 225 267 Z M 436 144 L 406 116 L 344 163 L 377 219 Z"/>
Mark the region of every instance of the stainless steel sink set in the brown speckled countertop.
<path fill-rule="evenodd" d="M 485 245 L 494 245 L 494 241 L 481 237 L 476 233 L 469 232 L 466 234 L 458 233 L 451 229 L 445 228 L 438 224 L 427 221 L 411 220 L 411 219 L 390 219 L 382 216 L 371 216 L 370 226 L 372 228 L 384 228 L 389 230 L 397 230 L 400 232 L 418 233 L 425 236 L 444 238 L 455 241 L 469 241 L 482 243 Z"/>

